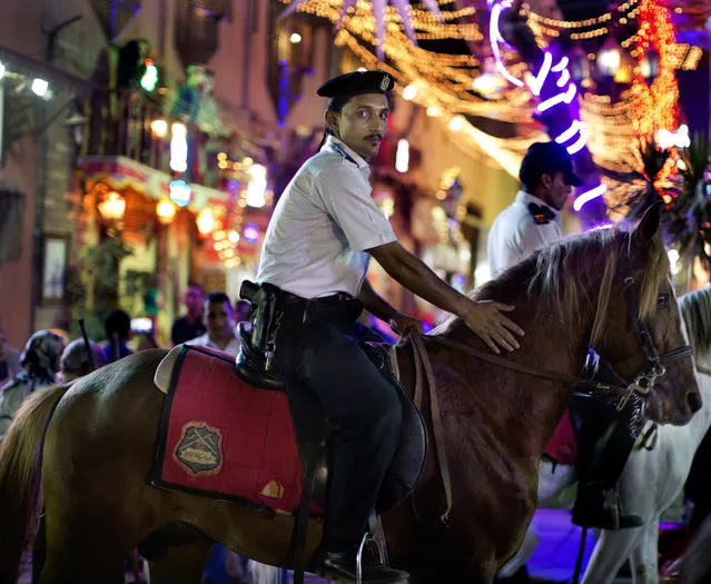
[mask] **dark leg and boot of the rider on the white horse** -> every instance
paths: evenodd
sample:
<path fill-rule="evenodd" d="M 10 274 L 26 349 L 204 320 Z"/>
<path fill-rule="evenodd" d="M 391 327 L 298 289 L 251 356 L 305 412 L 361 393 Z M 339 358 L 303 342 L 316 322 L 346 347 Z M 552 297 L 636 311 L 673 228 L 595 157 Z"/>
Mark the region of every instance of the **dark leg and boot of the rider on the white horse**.
<path fill-rule="evenodd" d="M 615 485 L 634 447 L 634 404 L 618 412 L 614 404 L 580 396 L 571 400 L 571 416 L 579 441 L 575 461 L 577 498 L 573 523 L 599 529 L 639 527 L 642 519 L 624 515 Z"/>

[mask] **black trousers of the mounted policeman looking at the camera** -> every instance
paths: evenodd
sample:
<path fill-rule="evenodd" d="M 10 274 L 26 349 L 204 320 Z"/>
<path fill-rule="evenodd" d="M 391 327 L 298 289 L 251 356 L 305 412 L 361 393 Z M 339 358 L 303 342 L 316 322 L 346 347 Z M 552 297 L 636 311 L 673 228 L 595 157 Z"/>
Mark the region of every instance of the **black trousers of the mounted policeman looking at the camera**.
<path fill-rule="evenodd" d="M 300 310 L 285 317 L 276 364 L 298 382 L 297 390 L 317 395 L 337 427 L 329 441 L 324 547 L 353 552 L 397 449 L 402 405 L 396 388 L 361 348 L 353 308 L 309 304 L 307 323 Z"/>

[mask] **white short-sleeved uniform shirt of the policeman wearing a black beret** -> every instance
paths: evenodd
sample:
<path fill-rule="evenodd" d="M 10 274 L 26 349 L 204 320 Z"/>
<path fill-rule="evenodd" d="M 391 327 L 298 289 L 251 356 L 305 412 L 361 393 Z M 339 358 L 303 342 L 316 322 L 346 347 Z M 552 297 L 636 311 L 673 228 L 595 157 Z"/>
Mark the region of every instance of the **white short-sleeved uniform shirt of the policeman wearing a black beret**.
<path fill-rule="evenodd" d="M 329 136 L 274 209 L 257 281 L 303 298 L 357 296 L 371 260 L 365 250 L 396 240 L 371 198 L 369 174 L 363 158 Z"/>

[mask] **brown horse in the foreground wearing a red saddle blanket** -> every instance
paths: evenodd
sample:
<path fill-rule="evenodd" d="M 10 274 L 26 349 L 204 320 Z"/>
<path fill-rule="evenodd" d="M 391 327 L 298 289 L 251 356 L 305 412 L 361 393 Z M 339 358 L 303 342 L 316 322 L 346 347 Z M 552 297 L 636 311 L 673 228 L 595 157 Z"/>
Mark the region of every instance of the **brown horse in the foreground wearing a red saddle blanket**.
<path fill-rule="evenodd" d="M 516 306 L 514 318 L 526 336 L 510 358 L 574 376 L 592 344 L 633 379 L 648 364 L 640 327 L 650 333 L 652 352 L 668 355 L 684 346 L 658 227 L 659 212 L 650 211 L 632 231 L 599 230 L 556 244 L 480 289 L 480 299 Z M 421 523 L 411 505 L 396 506 L 384 517 L 389 554 L 412 583 L 488 584 L 522 542 L 535 509 L 539 461 L 571 388 L 477 360 L 438 338 L 484 345 L 457 319 L 426 338 L 454 508 L 442 525 Z M 38 393 L 18 412 L 0 446 L 0 584 L 14 582 L 40 482 L 47 513 L 41 584 L 105 582 L 138 544 L 164 552 L 150 562 L 154 583 L 199 583 L 214 542 L 288 567 L 292 516 L 147 484 L 164 404 L 152 378 L 165 355 L 134 355 L 70 387 Z M 401 346 L 397 357 L 409 387 L 411 347 Z M 666 365 L 648 405 L 660 423 L 691 419 L 700 407 L 691 357 Z M 432 452 L 414 498 L 423 519 L 444 508 Z M 310 532 L 313 552 L 318 524 Z"/>

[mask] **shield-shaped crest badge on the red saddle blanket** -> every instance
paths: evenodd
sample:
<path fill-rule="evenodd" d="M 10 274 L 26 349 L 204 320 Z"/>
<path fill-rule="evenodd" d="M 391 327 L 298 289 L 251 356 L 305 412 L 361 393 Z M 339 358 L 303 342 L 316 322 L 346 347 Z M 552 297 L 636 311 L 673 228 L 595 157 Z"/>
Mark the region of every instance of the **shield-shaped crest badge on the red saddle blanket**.
<path fill-rule="evenodd" d="M 223 469 L 223 433 L 205 422 L 188 422 L 172 459 L 190 476 L 218 474 Z"/>

